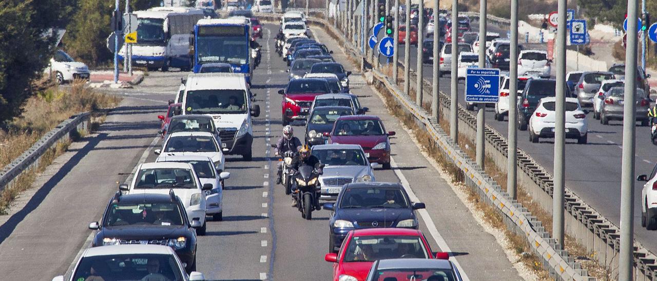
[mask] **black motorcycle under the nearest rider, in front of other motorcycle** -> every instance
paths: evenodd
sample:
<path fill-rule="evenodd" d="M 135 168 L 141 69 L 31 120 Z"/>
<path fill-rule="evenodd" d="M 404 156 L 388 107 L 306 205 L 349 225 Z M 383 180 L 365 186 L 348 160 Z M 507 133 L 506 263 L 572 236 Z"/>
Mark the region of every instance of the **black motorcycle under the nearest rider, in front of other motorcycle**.
<path fill-rule="evenodd" d="M 301 217 L 310 220 L 313 218 L 313 210 L 315 210 L 315 203 L 317 196 L 319 196 L 319 172 L 311 165 L 302 165 L 299 170 L 292 175 L 292 188 L 294 196 L 298 202 L 298 208 L 301 212 Z"/>

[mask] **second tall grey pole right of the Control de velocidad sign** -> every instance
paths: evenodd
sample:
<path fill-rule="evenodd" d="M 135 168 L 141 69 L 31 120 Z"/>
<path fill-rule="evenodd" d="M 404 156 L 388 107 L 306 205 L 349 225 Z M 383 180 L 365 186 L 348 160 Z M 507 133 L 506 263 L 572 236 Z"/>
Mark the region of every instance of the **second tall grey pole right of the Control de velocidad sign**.
<path fill-rule="evenodd" d="M 558 2 L 558 28 L 556 33 L 556 118 L 555 118 L 555 178 L 552 203 L 552 235 L 564 246 L 564 146 L 566 133 L 566 0 Z"/>

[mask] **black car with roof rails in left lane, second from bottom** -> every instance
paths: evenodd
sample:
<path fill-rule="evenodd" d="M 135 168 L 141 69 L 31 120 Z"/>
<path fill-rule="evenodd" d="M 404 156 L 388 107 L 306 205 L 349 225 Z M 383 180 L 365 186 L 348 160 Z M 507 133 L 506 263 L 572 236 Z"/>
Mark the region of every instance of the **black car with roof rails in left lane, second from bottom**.
<path fill-rule="evenodd" d="M 153 244 L 170 246 L 185 270 L 196 270 L 196 231 L 201 223 L 187 219 L 183 202 L 173 194 L 127 194 L 116 192 L 102 215 L 92 246 Z"/>

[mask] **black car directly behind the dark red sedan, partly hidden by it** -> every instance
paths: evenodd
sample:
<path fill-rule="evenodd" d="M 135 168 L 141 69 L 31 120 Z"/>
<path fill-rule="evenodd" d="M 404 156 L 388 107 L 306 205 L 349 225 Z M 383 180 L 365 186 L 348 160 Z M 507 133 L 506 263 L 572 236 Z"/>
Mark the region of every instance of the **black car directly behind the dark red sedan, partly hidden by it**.
<path fill-rule="evenodd" d="M 325 144 L 324 133 L 333 129 L 335 120 L 340 116 L 353 115 L 349 106 L 317 106 L 308 115 L 306 125 L 306 144 Z"/>

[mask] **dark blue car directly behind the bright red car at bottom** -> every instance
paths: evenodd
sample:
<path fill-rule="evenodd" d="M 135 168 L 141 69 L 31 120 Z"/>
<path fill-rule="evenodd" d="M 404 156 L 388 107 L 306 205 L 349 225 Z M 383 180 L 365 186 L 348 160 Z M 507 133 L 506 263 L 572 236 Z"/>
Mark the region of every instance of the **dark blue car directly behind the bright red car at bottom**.
<path fill-rule="evenodd" d="M 416 209 L 424 203 L 411 202 L 399 183 L 345 184 L 335 204 L 324 204 L 332 211 L 329 220 L 328 250 L 338 251 L 350 230 L 376 227 L 418 228 Z"/>

